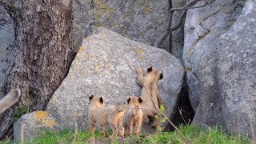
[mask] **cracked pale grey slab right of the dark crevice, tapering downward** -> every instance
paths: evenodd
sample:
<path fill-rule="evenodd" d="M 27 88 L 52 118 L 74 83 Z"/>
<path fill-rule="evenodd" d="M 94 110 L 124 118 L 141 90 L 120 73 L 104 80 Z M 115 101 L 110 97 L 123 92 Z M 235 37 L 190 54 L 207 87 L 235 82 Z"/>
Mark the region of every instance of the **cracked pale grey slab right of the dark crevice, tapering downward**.
<path fill-rule="evenodd" d="M 198 63 L 209 50 L 208 45 L 233 26 L 242 12 L 243 3 L 243 0 L 235 2 L 216 0 L 212 6 L 187 12 L 182 59 L 189 86 L 190 102 L 194 110 L 197 110 L 202 95 L 200 88 L 202 84 L 198 82 L 197 75 Z"/>

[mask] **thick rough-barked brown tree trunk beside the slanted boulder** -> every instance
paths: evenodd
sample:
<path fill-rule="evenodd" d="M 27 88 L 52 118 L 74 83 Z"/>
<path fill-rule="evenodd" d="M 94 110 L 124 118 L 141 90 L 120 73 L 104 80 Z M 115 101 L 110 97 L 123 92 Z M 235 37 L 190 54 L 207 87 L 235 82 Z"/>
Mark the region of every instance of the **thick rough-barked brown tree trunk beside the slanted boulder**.
<path fill-rule="evenodd" d="M 22 90 L 19 105 L 45 109 L 74 58 L 72 0 L 0 0 L 14 19 L 14 62 L 7 91 Z M 0 118 L 0 139 L 9 136 L 14 108 Z"/>

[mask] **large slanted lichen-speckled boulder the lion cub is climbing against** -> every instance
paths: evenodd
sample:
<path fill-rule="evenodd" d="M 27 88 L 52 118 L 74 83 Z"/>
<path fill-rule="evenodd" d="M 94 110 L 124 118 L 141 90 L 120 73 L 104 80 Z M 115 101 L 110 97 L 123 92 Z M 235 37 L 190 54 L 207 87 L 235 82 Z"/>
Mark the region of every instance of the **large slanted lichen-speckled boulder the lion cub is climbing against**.
<path fill-rule="evenodd" d="M 60 127 L 88 130 L 87 114 L 90 94 L 102 95 L 107 105 L 126 102 L 126 96 L 140 95 L 133 69 L 155 66 L 162 70 L 164 78 L 159 91 L 170 117 L 182 86 L 182 63 L 166 50 L 131 41 L 104 28 L 85 38 L 69 74 L 62 81 L 46 108 L 57 118 Z"/>

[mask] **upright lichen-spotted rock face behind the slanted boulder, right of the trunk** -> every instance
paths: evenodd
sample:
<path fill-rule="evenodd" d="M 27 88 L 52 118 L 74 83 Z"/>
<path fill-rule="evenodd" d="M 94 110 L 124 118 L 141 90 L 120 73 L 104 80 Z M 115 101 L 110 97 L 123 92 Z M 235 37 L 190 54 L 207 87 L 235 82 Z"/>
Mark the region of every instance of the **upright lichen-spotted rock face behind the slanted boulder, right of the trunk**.
<path fill-rule="evenodd" d="M 152 46 L 166 30 L 170 14 L 167 0 L 76 0 L 73 9 L 75 46 L 98 26 Z M 161 47 L 169 47 L 167 38 Z"/>

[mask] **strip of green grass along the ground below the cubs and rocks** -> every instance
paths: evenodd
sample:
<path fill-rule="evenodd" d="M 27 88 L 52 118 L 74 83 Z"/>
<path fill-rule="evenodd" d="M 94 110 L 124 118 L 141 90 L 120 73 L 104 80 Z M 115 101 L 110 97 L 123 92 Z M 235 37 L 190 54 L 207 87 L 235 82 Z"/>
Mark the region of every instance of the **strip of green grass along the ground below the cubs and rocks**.
<path fill-rule="evenodd" d="M 198 125 L 179 126 L 179 130 L 184 134 L 186 141 L 196 144 L 247 144 L 252 143 L 249 138 L 238 137 L 237 134 L 227 134 L 220 127 L 208 128 L 208 130 L 202 129 Z M 111 134 L 110 131 L 108 131 Z M 40 137 L 35 138 L 34 141 L 28 143 L 42 144 L 42 143 L 90 143 L 91 134 L 84 131 L 78 131 L 74 141 L 74 130 L 60 130 L 53 132 L 50 130 L 42 131 Z M 95 143 L 110 143 L 107 137 L 103 137 L 98 131 L 95 132 Z M 0 142 L 1 143 L 1 142 Z M 12 142 L 4 142 L 12 143 Z M 177 131 L 163 132 L 161 134 L 146 134 L 140 136 L 131 136 L 130 138 L 118 138 L 112 140 L 112 143 L 181 143 L 183 144 L 182 137 Z"/>

